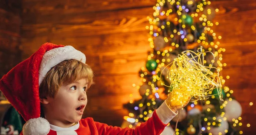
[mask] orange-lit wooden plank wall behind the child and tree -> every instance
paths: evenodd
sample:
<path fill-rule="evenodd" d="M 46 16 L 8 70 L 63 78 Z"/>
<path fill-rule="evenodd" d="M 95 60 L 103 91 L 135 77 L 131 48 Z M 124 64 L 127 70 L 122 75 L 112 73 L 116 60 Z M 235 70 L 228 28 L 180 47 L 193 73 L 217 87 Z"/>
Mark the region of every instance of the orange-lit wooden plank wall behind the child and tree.
<path fill-rule="evenodd" d="M 87 56 L 95 71 L 96 85 L 88 93 L 84 117 L 120 126 L 128 115 L 122 104 L 140 98 L 132 84 L 139 84 L 138 71 L 145 65 L 148 45 L 147 16 L 156 0 L 23 0 L 22 59 L 44 42 L 73 45 Z M 217 0 L 220 11 L 214 28 L 225 48 L 223 75 L 226 85 L 243 108 L 245 135 L 255 132 L 256 118 L 256 1 Z M 256 102 L 255 102 L 256 104 Z M 251 127 L 247 128 L 246 124 Z"/>

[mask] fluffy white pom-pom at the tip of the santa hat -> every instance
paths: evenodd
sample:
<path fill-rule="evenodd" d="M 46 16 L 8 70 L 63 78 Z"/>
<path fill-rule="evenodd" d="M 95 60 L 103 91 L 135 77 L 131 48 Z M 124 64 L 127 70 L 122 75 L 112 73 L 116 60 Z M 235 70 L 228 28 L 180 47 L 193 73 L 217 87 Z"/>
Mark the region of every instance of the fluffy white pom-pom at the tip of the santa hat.
<path fill-rule="evenodd" d="M 23 135 L 47 135 L 50 124 L 45 118 L 32 118 L 26 121 L 22 128 Z"/>

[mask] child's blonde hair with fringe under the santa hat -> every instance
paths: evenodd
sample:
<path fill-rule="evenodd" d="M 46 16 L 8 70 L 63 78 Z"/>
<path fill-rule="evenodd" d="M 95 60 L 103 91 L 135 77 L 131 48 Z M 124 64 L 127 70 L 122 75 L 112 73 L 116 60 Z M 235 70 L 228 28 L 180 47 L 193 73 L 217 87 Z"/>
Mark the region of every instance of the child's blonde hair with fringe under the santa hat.
<path fill-rule="evenodd" d="M 54 98 L 61 85 L 80 79 L 88 79 L 87 89 L 93 84 L 93 70 L 90 66 L 76 59 L 64 60 L 47 72 L 39 86 L 39 97 Z"/>

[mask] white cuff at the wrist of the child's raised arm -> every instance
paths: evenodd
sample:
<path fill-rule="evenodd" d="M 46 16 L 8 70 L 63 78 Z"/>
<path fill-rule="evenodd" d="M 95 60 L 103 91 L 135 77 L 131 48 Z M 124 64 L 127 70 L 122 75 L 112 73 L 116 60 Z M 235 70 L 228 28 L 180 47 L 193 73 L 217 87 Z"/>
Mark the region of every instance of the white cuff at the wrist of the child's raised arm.
<path fill-rule="evenodd" d="M 164 124 L 168 124 L 172 120 L 172 118 L 174 118 L 178 114 L 178 112 L 174 113 L 168 107 L 166 101 L 164 101 L 163 104 L 161 104 L 160 107 L 157 108 L 156 113 Z"/>

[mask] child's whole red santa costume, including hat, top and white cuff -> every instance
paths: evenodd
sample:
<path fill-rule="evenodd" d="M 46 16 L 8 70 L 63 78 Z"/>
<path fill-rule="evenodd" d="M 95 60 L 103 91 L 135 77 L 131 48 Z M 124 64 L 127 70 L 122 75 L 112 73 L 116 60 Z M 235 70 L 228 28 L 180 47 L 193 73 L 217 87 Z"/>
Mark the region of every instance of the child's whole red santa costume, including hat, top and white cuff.
<path fill-rule="evenodd" d="M 85 55 L 72 46 L 45 43 L 0 80 L 0 90 L 26 121 L 20 135 L 159 135 L 177 115 L 164 102 L 151 118 L 135 129 L 108 126 L 93 118 L 81 119 L 68 128 L 49 124 L 40 117 L 39 86 L 52 67 L 68 59 L 86 61 Z"/>

